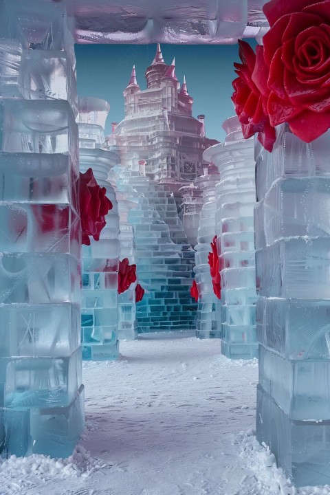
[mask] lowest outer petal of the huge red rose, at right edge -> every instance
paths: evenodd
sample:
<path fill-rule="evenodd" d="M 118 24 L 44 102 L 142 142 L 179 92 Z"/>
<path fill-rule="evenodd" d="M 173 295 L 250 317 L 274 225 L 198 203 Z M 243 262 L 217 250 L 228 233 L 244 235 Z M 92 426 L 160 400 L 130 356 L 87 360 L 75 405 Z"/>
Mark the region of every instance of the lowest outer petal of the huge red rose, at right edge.
<path fill-rule="evenodd" d="M 289 121 L 289 128 L 304 142 L 314 141 L 330 128 L 330 112 L 305 111 Z"/>

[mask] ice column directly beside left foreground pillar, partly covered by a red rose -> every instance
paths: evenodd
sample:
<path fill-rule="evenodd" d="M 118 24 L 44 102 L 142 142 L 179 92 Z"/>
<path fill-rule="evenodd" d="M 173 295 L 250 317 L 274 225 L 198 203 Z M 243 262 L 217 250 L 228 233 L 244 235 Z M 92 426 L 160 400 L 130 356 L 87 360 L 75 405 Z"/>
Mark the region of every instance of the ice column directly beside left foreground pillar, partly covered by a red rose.
<path fill-rule="evenodd" d="M 83 300 L 81 333 L 84 360 L 118 358 L 118 262 L 119 217 L 113 187 L 107 181 L 118 155 L 102 149 L 109 104 L 98 98 L 78 99 L 79 168 L 91 168 L 100 187 L 105 187 L 113 207 L 100 239 L 83 245 Z"/>

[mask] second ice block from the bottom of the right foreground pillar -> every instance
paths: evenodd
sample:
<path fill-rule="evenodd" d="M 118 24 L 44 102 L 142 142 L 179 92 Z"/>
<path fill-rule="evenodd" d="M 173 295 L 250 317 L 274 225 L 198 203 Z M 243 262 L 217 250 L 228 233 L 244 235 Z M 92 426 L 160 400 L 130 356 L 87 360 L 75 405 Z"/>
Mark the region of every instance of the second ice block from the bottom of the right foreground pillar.
<path fill-rule="evenodd" d="M 259 383 L 292 419 L 330 419 L 329 360 L 288 360 L 260 344 Z"/>

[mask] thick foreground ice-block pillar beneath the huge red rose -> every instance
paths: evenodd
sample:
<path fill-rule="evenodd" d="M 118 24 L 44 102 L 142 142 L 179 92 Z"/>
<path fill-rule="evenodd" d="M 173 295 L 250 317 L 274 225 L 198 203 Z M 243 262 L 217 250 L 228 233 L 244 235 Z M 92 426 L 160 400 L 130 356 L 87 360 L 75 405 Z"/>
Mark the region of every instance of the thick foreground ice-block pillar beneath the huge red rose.
<path fill-rule="evenodd" d="M 256 144 L 257 437 L 294 483 L 330 483 L 329 132 Z"/>

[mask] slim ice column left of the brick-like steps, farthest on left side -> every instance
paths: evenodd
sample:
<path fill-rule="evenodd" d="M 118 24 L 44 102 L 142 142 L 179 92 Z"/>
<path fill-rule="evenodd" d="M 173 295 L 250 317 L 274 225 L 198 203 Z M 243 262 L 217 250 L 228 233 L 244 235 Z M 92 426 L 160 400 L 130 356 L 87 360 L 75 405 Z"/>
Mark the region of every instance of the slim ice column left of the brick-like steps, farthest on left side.
<path fill-rule="evenodd" d="M 126 188 L 122 187 L 121 177 L 118 175 L 118 170 L 121 170 L 121 168 L 117 168 L 116 171 L 111 170 L 108 180 L 113 188 L 115 188 L 115 195 L 118 201 L 120 259 L 123 260 L 127 258 L 129 260 L 129 264 L 133 265 L 136 263 L 134 229 L 133 225 L 131 225 L 128 221 L 128 215 L 131 208 L 135 208 L 136 203 L 129 200 Z M 136 283 L 133 283 L 129 289 L 118 295 L 119 340 L 134 340 L 137 338 L 135 287 Z"/>

